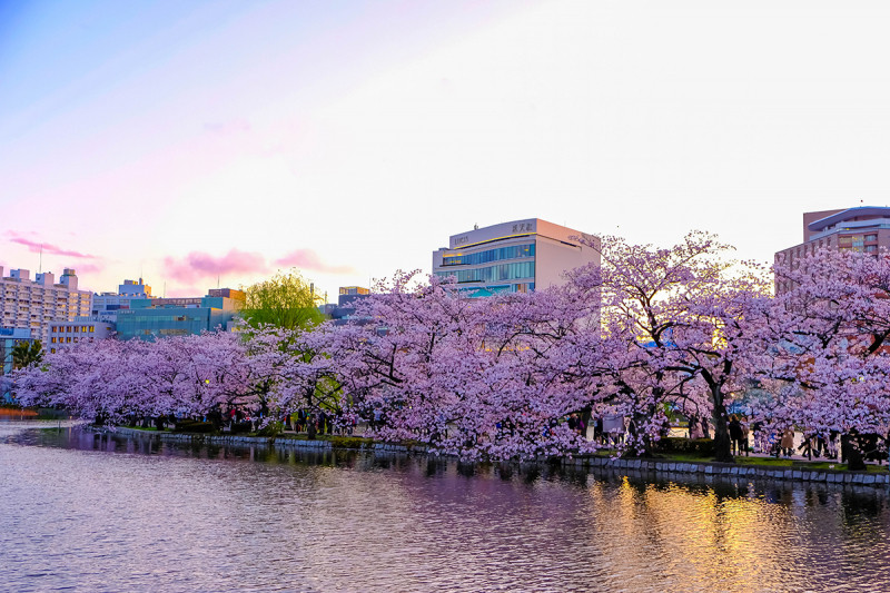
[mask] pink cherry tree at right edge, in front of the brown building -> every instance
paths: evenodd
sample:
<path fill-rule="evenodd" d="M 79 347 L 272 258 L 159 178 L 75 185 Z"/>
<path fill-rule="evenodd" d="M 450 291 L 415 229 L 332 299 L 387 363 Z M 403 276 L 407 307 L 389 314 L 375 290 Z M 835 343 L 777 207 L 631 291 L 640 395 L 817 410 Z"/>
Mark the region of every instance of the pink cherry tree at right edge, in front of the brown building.
<path fill-rule="evenodd" d="M 886 435 L 890 426 L 890 258 L 823 249 L 775 265 L 755 376 L 773 429 Z M 852 452 L 851 463 L 861 467 Z"/>

